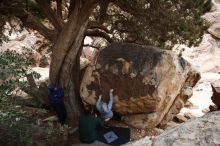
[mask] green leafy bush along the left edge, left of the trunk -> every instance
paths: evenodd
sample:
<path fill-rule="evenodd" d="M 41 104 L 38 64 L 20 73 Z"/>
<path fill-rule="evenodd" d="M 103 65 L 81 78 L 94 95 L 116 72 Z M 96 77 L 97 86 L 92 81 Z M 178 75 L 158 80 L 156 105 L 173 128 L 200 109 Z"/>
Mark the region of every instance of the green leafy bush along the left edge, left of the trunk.
<path fill-rule="evenodd" d="M 46 146 L 52 138 L 59 139 L 67 129 L 67 126 L 50 121 L 39 124 L 37 121 L 44 117 L 46 111 L 34 108 L 33 113 L 31 109 L 25 109 L 19 104 L 19 99 L 16 99 L 18 97 L 13 97 L 15 89 L 27 85 L 27 75 L 40 77 L 36 72 L 29 71 L 33 63 L 27 53 L 18 54 L 7 50 L 0 54 L 0 144 Z"/>

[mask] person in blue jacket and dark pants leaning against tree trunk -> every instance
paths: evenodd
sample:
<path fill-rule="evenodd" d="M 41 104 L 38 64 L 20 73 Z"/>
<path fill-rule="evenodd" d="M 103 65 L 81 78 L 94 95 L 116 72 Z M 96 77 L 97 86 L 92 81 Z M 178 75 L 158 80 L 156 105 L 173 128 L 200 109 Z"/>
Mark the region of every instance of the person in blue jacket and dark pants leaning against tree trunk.
<path fill-rule="evenodd" d="M 66 108 L 62 100 L 64 96 L 64 90 L 60 86 L 52 83 L 48 85 L 48 90 L 50 101 L 57 112 L 59 122 L 63 125 L 65 124 L 67 117 Z"/>

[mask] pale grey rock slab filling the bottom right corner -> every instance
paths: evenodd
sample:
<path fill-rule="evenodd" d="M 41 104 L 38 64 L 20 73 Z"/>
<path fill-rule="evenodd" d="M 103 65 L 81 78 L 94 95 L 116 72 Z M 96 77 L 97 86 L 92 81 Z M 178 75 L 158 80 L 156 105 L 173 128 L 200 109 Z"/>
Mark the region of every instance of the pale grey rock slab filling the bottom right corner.
<path fill-rule="evenodd" d="M 165 131 L 156 137 L 154 146 L 219 146 L 219 127 L 220 111 L 208 113 Z"/>

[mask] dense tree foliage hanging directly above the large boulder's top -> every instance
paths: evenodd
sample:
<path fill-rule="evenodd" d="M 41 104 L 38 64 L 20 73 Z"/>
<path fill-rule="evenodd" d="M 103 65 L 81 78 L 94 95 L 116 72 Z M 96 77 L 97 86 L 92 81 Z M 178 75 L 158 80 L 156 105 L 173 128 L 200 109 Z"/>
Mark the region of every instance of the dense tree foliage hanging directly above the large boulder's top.
<path fill-rule="evenodd" d="M 211 0 L 117 0 L 108 10 L 108 23 L 118 41 L 172 48 L 177 43 L 198 45 L 207 24 L 201 15 Z"/>

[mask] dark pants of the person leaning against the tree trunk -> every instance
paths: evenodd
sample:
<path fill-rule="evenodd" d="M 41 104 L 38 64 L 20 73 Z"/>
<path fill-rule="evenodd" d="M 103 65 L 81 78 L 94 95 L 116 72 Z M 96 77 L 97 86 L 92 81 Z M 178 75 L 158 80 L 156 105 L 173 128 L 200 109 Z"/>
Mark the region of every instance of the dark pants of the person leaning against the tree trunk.
<path fill-rule="evenodd" d="M 66 108 L 63 102 L 59 102 L 59 103 L 53 103 L 53 106 L 57 112 L 57 116 L 59 119 L 59 122 L 63 125 L 66 123 Z"/>

